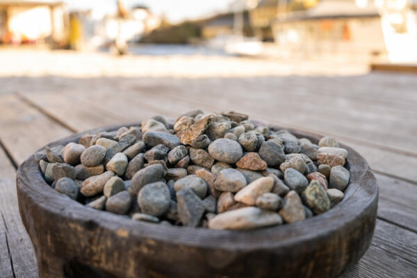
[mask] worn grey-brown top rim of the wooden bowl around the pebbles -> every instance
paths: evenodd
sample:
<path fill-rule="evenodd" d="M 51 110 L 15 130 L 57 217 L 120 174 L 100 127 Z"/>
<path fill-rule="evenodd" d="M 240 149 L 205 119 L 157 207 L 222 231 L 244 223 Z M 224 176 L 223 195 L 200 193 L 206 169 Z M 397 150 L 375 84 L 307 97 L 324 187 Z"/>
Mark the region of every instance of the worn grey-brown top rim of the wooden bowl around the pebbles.
<path fill-rule="evenodd" d="M 90 129 L 56 140 L 44 147 L 78 142 L 81 136 L 88 133 L 115 131 L 121 126 L 138 125 L 140 124 L 136 122 Z M 281 126 L 273 124 L 268 126 L 270 129 L 283 129 Z M 293 133 L 297 138 L 309 138 L 313 143 L 318 142 L 323 137 L 309 131 L 285 129 Z M 37 152 L 42 151 L 44 147 L 38 149 Z M 345 197 L 341 203 L 325 213 L 300 222 L 247 231 L 165 226 L 136 221 L 122 215 L 95 210 L 51 188 L 44 181 L 39 163 L 36 162 L 34 155 L 19 165 L 17 186 L 19 190 L 28 193 L 37 202 L 38 206 L 50 213 L 59 213 L 70 220 L 98 225 L 100 228 L 111 230 L 120 236 L 129 234 L 147 240 L 158 240 L 163 243 L 224 251 L 272 250 L 279 247 L 288 247 L 291 243 L 308 243 L 310 240 L 317 238 L 325 240 L 327 236 L 343 229 L 346 224 L 357 221 L 358 218 L 368 218 L 369 216 L 376 218 L 376 212 L 373 215 L 373 206 L 377 202 L 378 186 L 375 177 L 370 172 L 368 163 L 351 147 L 344 144 L 340 144 L 340 147 L 347 149 L 348 156 L 345 166 L 347 166 L 350 172 L 350 183 L 344 191 Z"/>

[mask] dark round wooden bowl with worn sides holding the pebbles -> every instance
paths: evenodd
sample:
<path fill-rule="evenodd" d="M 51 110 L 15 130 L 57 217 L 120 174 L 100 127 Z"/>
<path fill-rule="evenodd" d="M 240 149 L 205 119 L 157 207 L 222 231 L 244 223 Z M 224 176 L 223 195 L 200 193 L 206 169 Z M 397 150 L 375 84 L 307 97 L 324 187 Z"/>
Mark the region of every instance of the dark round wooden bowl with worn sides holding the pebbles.
<path fill-rule="evenodd" d="M 321 138 L 291 131 L 312 142 Z M 49 147 L 78 142 L 83 134 Z M 378 199 L 365 159 L 341 147 L 349 152 L 350 170 L 343 201 L 293 224 L 218 231 L 134 221 L 58 193 L 33 157 L 17 170 L 19 211 L 40 277 L 337 277 L 370 245 Z"/>

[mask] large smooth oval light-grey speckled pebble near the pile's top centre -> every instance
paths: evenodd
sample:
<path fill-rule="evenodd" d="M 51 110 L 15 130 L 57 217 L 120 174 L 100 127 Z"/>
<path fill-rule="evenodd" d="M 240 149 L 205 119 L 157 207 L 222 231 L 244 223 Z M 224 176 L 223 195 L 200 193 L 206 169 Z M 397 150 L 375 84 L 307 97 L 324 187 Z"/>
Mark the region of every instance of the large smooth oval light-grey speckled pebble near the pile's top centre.
<path fill-rule="evenodd" d="M 243 149 L 234 140 L 220 138 L 208 145 L 208 153 L 217 161 L 236 163 L 243 156 Z"/>

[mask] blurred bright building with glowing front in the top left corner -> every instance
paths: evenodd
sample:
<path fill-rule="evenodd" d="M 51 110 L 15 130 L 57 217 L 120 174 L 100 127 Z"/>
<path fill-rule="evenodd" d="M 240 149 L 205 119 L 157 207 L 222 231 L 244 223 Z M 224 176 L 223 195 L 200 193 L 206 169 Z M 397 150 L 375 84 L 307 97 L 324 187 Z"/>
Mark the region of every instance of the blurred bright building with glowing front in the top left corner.
<path fill-rule="evenodd" d="M 61 1 L 0 0 L 3 44 L 67 44 L 68 13 Z"/>

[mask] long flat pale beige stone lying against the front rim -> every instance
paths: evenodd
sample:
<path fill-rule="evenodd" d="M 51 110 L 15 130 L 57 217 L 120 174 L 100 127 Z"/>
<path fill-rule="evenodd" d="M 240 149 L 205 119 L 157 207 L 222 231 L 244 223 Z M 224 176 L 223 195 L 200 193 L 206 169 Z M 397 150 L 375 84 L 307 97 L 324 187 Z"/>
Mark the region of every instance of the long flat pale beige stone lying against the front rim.
<path fill-rule="evenodd" d="M 282 224 L 278 213 L 263 211 L 253 206 L 216 215 L 208 220 L 210 229 L 248 230 Z"/>

